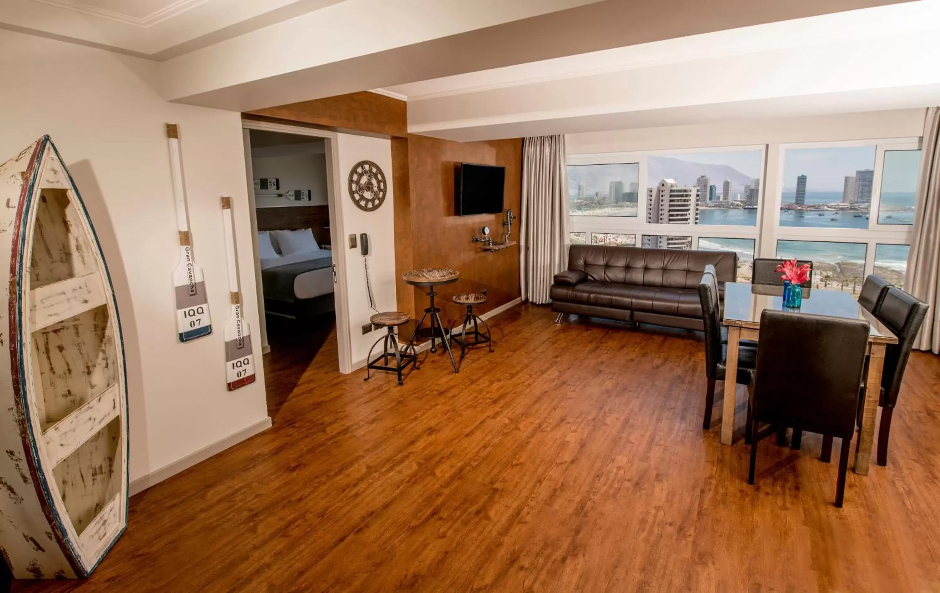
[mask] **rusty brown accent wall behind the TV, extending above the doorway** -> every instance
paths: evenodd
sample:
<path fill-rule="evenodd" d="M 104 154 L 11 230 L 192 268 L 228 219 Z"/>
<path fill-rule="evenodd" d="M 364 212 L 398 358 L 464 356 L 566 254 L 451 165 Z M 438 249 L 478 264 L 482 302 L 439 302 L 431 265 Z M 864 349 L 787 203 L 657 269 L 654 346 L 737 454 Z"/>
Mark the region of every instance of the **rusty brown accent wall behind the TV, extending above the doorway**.
<path fill-rule="evenodd" d="M 392 138 L 392 183 L 395 191 L 395 268 L 399 278 L 398 306 L 413 316 L 428 306 L 425 289 L 402 281 L 401 273 L 416 268 L 453 268 L 461 279 L 440 287 L 438 303 L 446 320 L 458 320 L 465 308 L 453 304 L 457 292 L 487 289 L 489 300 L 475 307 L 483 313 L 519 298 L 519 246 L 485 252 L 471 242 L 483 226 L 493 240 L 502 238 L 503 214 L 454 214 L 454 167 L 460 163 L 498 164 L 506 167 L 504 211 L 512 209 L 516 221 L 512 240 L 519 238 L 522 212 L 522 139 L 454 142 L 408 133 L 407 108 L 376 93 L 361 92 L 316 101 L 304 101 L 251 112 L 333 128 L 344 132 L 383 133 Z M 345 174 L 346 172 L 341 172 Z M 344 199 L 349 199 L 343 192 Z"/>

